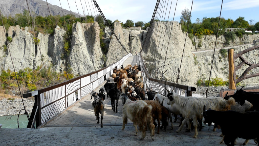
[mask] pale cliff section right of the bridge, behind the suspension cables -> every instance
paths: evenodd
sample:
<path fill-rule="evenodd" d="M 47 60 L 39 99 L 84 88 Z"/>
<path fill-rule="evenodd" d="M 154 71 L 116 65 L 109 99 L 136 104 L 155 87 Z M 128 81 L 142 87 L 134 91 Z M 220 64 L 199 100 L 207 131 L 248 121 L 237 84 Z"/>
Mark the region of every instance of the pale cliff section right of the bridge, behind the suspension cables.
<path fill-rule="evenodd" d="M 154 22 L 154 25 L 150 29 L 159 28 L 159 26 L 163 25 L 164 22 Z M 167 22 L 165 22 L 166 24 Z M 195 46 L 192 44 L 192 40 L 187 37 L 186 43 L 184 47 L 184 41 L 186 33 L 183 33 L 181 30 L 181 25 L 178 22 L 168 22 L 168 28 L 171 28 L 173 25 L 173 29 L 171 32 L 171 37 L 169 40 L 169 30 L 165 30 L 164 27 L 161 30 L 161 32 L 158 32 L 159 30 L 155 29 L 153 30 L 153 33 L 150 38 L 150 43 L 147 44 L 147 47 L 154 48 L 154 56 L 148 58 L 148 68 L 151 68 L 151 76 L 155 77 L 156 71 L 152 69 L 152 67 L 156 66 L 156 68 L 164 66 L 163 72 L 164 72 L 164 79 L 172 82 L 176 82 L 177 79 L 177 73 L 178 68 L 180 68 L 181 65 L 181 57 L 183 53 L 183 60 L 181 65 L 181 70 L 179 74 L 179 80 L 178 83 L 185 84 L 185 85 L 191 85 L 196 86 L 196 83 L 198 80 L 208 80 L 210 75 L 210 69 L 211 69 L 211 62 L 212 62 L 212 56 L 213 56 L 213 50 L 215 46 L 215 39 L 216 37 L 214 35 L 209 36 L 203 36 L 202 38 L 194 37 L 194 42 L 196 43 Z M 168 51 L 167 50 L 167 44 L 162 46 L 162 41 L 159 41 L 158 34 L 161 33 L 161 36 L 164 36 L 164 42 L 168 43 Z M 217 38 L 217 46 L 216 48 L 226 48 L 225 54 L 220 53 L 220 50 L 217 49 L 215 51 L 214 55 L 214 61 L 212 65 L 212 73 L 211 78 L 221 78 L 223 81 L 228 81 L 228 55 L 227 55 L 227 48 L 235 47 L 235 53 L 238 53 L 244 49 L 247 49 L 249 47 L 254 46 L 253 41 L 257 40 L 259 38 L 259 35 L 244 35 L 242 38 L 236 37 L 236 39 L 233 42 L 230 42 L 229 45 L 225 45 L 225 37 L 219 36 Z M 201 43 L 198 47 L 199 39 L 201 39 Z M 163 40 L 163 39 L 161 39 Z M 160 42 L 160 43 L 159 43 Z M 236 47 L 237 45 L 241 45 L 247 43 L 248 45 Z M 159 45 L 158 45 L 159 44 Z M 145 46 L 144 46 L 145 47 Z M 144 48 L 143 47 L 143 48 Z M 162 48 L 162 51 L 161 51 Z M 211 51 L 208 51 L 211 50 Z M 198 52 L 199 51 L 199 52 Z M 203 51 L 203 52 L 200 52 Z M 160 55 L 161 52 L 161 55 Z M 152 52 L 151 52 L 152 53 Z M 147 56 L 148 52 L 144 50 L 144 55 Z M 259 49 L 256 49 L 254 51 L 248 52 L 243 55 L 244 58 L 251 61 L 252 63 L 258 63 L 259 62 Z M 166 56 L 166 60 L 165 60 Z M 165 60 L 165 63 L 164 63 Z M 236 59 L 235 65 L 238 65 L 240 63 L 240 59 Z M 169 64 L 169 65 L 167 65 Z M 243 68 L 239 69 L 236 72 L 237 77 L 241 76 L 243 71 L 248 66 L 245 65 Z M 159 69 L 158 78 L 161 77 L 162 72 L 161 67 Z M 166 71 L 166 72 L 165 72 Z M 249 74 L 253 74 L 259 72 L 259 69 L 253 69 L 249 72 Z M 258 85 L 259 77 L 254 77 L 250 79 L 243 80 L 241 84 L 255 84 Z"/>

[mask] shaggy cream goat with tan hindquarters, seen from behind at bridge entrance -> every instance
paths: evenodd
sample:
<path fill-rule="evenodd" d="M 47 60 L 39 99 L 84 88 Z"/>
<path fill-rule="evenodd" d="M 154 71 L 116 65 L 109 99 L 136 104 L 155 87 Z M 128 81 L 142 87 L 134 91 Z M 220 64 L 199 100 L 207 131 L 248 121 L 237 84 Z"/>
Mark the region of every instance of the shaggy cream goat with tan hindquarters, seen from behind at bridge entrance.
<path fill-rule="evenodd" d="M 123 106 L 123 125 L 121 130 L 124 130 L 125 124 L 128 122 L 128 118 L 133 122 L 135 127 L 135 134 L 138 135 L 137 125 L 139 126 L 139 130 L 142 131 L 142 139 L 146 137 L 146 129 L 147 125 L 150 129 L 151 139 L 154 141 L 154 131 L 155 125 L 153 124 L 152 118 L 152 106 L 147 105 L 144 101 L 131 101 L 130 99 L 126 99 L 124 102 L 124 98 L 121 98 L 121 101 L 124 104 Z"/>

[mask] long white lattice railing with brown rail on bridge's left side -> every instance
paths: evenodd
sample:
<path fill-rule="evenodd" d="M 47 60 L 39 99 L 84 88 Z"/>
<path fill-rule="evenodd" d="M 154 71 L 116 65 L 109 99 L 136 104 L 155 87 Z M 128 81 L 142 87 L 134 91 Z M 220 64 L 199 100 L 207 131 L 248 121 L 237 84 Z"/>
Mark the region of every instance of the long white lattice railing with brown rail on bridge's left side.
<path fill-rule="evenodd" d="M 132 54 L 127 54 L 109 67 L 75 77 L 65 82 L 52 85 L 51 87 L 24 94 L 23 97 L 35 97 L 33 107 L 34 114 L 32 112 L 31 115 L 36 116 L 36 126 L 38 127 L 39 125 L 44 124 L 64 111 L 67 107 L 74 104 L 77 100 L 91 93 L 101 85 L 107 77 L 112 75 L 114 67 L 122 64 L 129 56 L 132 56 Z M 36 98 L 36 96 L 38 97 Z M 30 122 L 27 127 L 29 127 L 29 124 Z"/>

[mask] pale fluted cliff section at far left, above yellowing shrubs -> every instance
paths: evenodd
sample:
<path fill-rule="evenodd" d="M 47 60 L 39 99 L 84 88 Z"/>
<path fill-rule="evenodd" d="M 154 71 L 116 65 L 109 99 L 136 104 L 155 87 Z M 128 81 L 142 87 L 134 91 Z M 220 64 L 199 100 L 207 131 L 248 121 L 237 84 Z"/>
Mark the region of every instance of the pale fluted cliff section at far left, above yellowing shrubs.
<path fill-rule="evenodd" d="M 38 66 L 42 67 L 42 59 L 44 65 L 53 67 L 55 71 L 64 69 L 60 57 L 64 48 L 62 37 L 66 33 L 64 29 L 57 26 L 54 35 L 39 33 L 38 41 L 34 37 L 33 31 L 28 27 L 20 28 L 19 25 L 16 27 L 11 26 L 8 32 L 8 37 L 12 38 L 12 41 L 9 42 L 10 52 L 4 52 L 4 56 L 1 57 L 1 69 L 13 70 L 10 54 L 12 55 L 16 71 L 24 68 L 36 69 Z M 37 45 L 37 42 L 39 45 Z M 62 48 L 62 50 L 59 48 Z M 42 55 L 42 59 L 40 54 Z"/>

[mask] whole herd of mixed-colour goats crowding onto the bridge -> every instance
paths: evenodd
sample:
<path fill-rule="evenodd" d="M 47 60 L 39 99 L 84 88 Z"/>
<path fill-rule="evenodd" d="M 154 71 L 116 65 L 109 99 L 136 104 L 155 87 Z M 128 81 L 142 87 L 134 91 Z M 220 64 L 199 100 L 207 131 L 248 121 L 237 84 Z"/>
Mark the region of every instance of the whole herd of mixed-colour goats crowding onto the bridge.
<path fill-rule="evenodd" d="M 173 129 L 172 115 L 181 116 L 181 123 L 176 130 L 180 132 L 184 125 L 187 126 L 187 131 L 191 128 L 195 129 L 194 138 L 198 136 L 199 131 L 202 130 L 202 122 L 211 125 L 214 123 L 214 129 L 221 129 L 221 136 L 223 139 L 220 143 L 225 142 L 228 146 L 235 144 L 236 138 L 244 138 L 247 144 L 250 139 L 253 139 L 257 144 L 256 139 L 259 138 L 258 118 L 259 118 L 259 93 L 246 92 L 239 89 L 234 92 L 234 95 L 210 98 L 198 97 L 184 97 L 175 92 L 168 91 L 167 97 L 159 93 L 152 92 L 152 90 L 145 93 L 143 87 L 143 77 L 140 66 L 135 64 L 133 67 L 127 64 L 126 67 L 121 65 L 113 69 L 112 78 L 114 82 L 107 82 L 104 89 L 107 93 L 107 98 L 110 97 L 112 110 L 118 112 L 119 99 L 123 103 L 123 126 L 122 130 L 127 124 L 128 118 L 133 122 L 135 134 L 138 129 L 142 131 L 142 139 L 146 136 L 146 130 L 150 130 L 150 136 L 154 140 L 154 129 L 157 127 L 159 134 L 160 128 L 168 125 L 169 119 L 171 122 L 171 129 Z M 92 107 L 95 111 L 97 123 L 99 123 L 99 114 L 101 114 L 101 127 L 103 127 L 104 114 L 104 89 L 100 89 L 99 93 L 94 92 L 92 97 Z M 147 95 L 147 100 L 145 100 Z M 92 98 L 91 98 L 92 99 Z M 115 110 L 116 100 L 116 110 Z M 157 120 L 157 124 L 156 121 Z M 160 127 L 160 121 L 162 125 Z M 192 126 L 193 123 L 193 126 Z M 241 128 L 240 125 L 243 127 Z M 258 145 L 258 144 L 257 144 Z"/>

